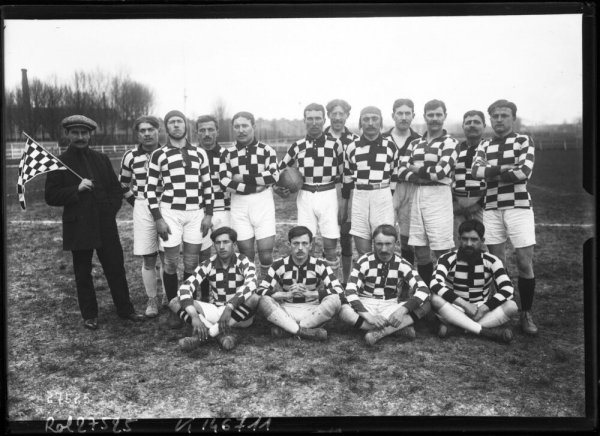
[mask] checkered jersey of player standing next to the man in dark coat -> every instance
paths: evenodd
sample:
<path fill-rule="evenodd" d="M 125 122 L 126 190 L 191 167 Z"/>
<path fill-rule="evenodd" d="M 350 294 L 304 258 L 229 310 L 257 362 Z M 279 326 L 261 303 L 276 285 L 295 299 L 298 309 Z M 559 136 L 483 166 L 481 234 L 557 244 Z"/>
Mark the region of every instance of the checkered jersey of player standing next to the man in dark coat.
<path fill-rule="evenodd" d="M 143 200 L 146 187 L 146 178 L 148 176 L 148 166 L 150 155 L 140 144 L 137 148 L 127 150 L 121 159 L 121 170 L 119 171 L 119 182 L 123 189 L 123 197 Z M 156 187 L 158 196 L 163 191 L 162 183 Z"/>

